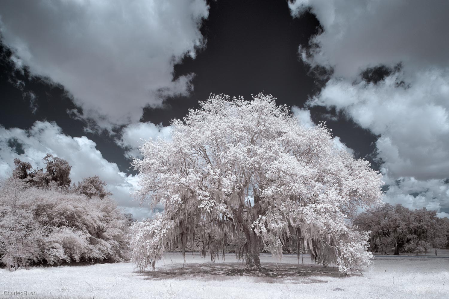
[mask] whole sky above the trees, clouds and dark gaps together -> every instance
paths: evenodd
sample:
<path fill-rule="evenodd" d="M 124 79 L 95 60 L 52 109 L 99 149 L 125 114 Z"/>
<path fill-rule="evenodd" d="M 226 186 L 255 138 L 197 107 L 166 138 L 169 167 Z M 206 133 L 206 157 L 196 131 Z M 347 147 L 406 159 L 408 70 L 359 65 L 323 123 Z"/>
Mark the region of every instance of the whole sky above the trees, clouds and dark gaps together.
<path fill-rule="evenodd" d="M 439 141 L 449 140 L 443 130 L 445 123 L 449 127 L 444 118 L 448 95 L 439 87 L 425 91 L 449 79 L 447 30 L 441 29 L 447 21 L 440 13 L 444 7 L 423 7 L 418 1 L 405 6 L 377 3 L 368 13 L 363 3 L 348 7 L 323 2 L 297 13 L 299 0 L 291 4 L 293 10 L 282 0 L 219 0 L 208 1 L 207 13 L 199 0 L 192 1 L 197 6 L 168 1 L 153 8 L 158 18 L 147 23 L 147 17 L 140 19 L 125 3 L 108 7 L 109 14 L 95 12 L 106 18 L 100 21 L 109 28 L 91 22 L 88 8 L 78 4 L 58 3 L 49 9 L 44 1 L 35 1 L 22 10 L 25 2 L 20 2 L 0 4 L 0 125 L 5 138 L 18 134 L 13 128 L 30 137 L 26 130 L 35 121 L 54 121 L 70 138 L 86 136 L 96 143 L 89 155 L 104 158 L 101 163 L 110 173 L 117 172 L 114 163 L 120 172 L 133 173 L 125 157 L 129 148 L 118 141 L 139 117 L 141 123 L 168 126 L 210 93 L 249 100 L 262 91 L 277 97 L 278 104 L 309 109 L 313 122 L 326 121 L 354 156 L 370 160 L 374 169 L 383 167 L 386 184 L 398 186 L 388 201 L 449 198 L 447 189 L 420 189 L 449 178 L 448 147 Z M 124 14 L 117 17 L 116 10 L 135 15 L 122 20 Z M 401 17 L 395 19 L 390 11 L 402 12 L 396 14 Z M 438 47 L 423 47 L 414 32 Z M 196 47 L 194 58 L 185 55 L 192 50 L 191 41 L 200 39 L 205 46 Z M 310 49 L 310 43 L 321 52 L 304 61 L 299 47 Z M 186 94 L 176 82 L 191 74 L 193 90 Z M 147 83 L 153 93 L 142 87 Z M 433 94 L 435 90 L 439 93 Z M 319 104 L 305 105 L 313 96 Z M 430 106 L 436 109 L 427 110 Z M 120 118 L 122 110 L 128 122 Z M 24 148 L 31 145 L 21 138 L 7 137 L 4 146 L 30 155 Z M 41 151 L 52 150 L 47 141 L 35 142 Z M 11 160 L 12 154 L 3 155 L 4 161 Z M 112 176 L 108 182 L 114 180 L 119 186 Z"/>

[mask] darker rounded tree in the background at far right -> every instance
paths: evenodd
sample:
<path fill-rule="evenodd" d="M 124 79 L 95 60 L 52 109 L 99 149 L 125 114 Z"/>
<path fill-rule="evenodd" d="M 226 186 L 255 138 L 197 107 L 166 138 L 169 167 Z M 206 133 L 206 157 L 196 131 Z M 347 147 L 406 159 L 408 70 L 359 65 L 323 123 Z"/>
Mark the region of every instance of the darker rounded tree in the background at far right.
<path fill-rule="evenodd" d="M 386 253 L 421 253 L 447 244 L 448 220 L 438 218 L 436 211 L 409 209 L 400 204 L 384 204 L 360 213 L 354 224 L 370 230 L 370 249 Z"/>

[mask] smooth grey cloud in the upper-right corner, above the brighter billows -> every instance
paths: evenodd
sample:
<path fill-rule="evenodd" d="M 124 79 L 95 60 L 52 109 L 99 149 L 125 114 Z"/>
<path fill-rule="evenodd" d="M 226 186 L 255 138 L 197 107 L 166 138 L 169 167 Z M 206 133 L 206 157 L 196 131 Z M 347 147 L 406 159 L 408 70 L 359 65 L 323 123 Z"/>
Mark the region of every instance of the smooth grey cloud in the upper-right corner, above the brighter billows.
<path fill-rule="evenodd" d="M 449 65 L 448 1 L 295 0 L 297 17 L 311 8 L 324 32 L 312 65 L 332 66 L 337 77 L 354 77 L 379 64 L 405 69 Z"/>

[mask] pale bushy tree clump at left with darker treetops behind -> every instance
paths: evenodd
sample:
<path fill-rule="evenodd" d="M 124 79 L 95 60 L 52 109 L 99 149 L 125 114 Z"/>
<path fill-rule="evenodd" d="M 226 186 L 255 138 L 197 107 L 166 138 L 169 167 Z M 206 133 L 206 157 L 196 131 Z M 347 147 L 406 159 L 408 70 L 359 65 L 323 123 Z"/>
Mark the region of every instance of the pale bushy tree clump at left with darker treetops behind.
<path fill-rule="evenodd" d="M 68 163 L 46 158 L 52 173 L 30 175 L 31 165 L 18 160 L 13 177 L 0 188 L 1 262 L 17 269 L 32 263 L 128 259 L 132 216 L 125 218 L 98 177 L 70 188 Z M 49 183 L 35 184 L 36 178 L 49 178 Z"/>

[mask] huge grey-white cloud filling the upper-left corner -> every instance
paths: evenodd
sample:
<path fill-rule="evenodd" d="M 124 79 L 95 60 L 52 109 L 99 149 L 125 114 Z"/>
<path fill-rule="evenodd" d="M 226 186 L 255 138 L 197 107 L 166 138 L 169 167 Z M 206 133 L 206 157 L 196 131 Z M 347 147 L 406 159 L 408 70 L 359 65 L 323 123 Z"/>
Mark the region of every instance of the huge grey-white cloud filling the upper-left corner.
<path fill-rule="evenodd" d="M 19 65 L 62 83 L 100 126 L 140 119 L 142 108 L 188 94 L 194 74 L 173 65 L 205 40 L 204 0 L 2 1 L 3 40 Z"/>

